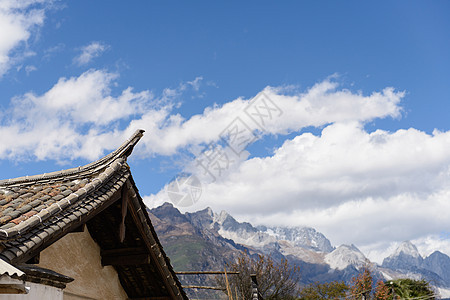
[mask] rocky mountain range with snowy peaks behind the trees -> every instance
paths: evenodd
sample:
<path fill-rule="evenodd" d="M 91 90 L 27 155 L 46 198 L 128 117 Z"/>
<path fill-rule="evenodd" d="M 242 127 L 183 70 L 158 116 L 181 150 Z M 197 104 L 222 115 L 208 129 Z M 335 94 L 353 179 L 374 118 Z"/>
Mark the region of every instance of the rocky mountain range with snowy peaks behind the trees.
<path fill-rule="evenodd" d="M 311 227 L 255 227 L 238 222 L 225 211 L 214 213 L 211 208 L 182 214 L 170 203 L 148 213 L 177 271 L 222 270 L 226 262 L 246 251 L 250 255 L 285 258 L 299 266 L 302 284 L 349 282 L 361 268 L 370 265 L 375 279 L 426 279 L 442 297 L 450 297 L 450 257 L 435 251 L 424 258 L 410 241 L 401 243 L 378 265 L 370 262 L 355 245 L 332 246 Z M 181 279 L 185 284 L 214 281 L 203 275 Z M 212 297 L 211 293 L 208 297 Z"/>

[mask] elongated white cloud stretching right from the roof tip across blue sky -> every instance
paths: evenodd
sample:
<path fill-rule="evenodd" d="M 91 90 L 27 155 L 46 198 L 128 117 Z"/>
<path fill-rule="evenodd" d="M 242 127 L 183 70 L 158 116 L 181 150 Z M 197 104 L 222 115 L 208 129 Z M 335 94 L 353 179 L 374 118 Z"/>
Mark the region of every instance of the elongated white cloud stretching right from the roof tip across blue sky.
<path fill-rule="evenodd" d="M 284 95 L 280 89 L 266 88 L 265 95 L 281 109 L 282 115 L 267 120 L 263 133 L 285 134 L 307 126 L 323 126 L 332 122 L 363 122 L 400 116 L 402 92 L 386 88 L 381 93 L 364 96 L 348 90 L 338 90 L 337 87 L 337 83 L 325 80 L 305 93 L 294 96 Z M 202 114 L 194 115 L 188 120 L 181 115 L 171 115 L 167 120 L 158 121 L 157 127 L 154 119 L 144 115 L 143 118 L 134 120 L 131 126 L 148 129 L 143 141 L 147 153 L 173 155 L 184 147 L 218 140 L 221 132 L 236 117 L 240 117 L 250 129 L 257 130 L 259 127 L 256 123 L 244 113 L 252 100 L 238 98 L 222 106 L 208 107 Z M 264 110 L 261 112 L 266 113 Z"/>

